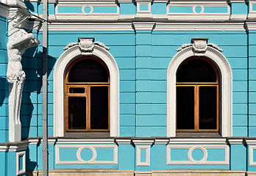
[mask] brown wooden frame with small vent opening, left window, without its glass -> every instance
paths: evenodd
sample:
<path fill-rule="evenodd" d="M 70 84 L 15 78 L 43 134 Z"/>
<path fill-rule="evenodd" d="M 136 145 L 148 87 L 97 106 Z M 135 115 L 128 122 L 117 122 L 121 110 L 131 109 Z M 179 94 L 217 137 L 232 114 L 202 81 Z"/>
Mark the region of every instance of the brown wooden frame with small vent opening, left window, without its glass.
<path fill-rule="evenodd" d="M 99 62 L 107 71 L 108 81 L 107 82 L 69 82 L 68 76 L 71 70 L 77 62 L 82 59 L 94 59 Z M 84 93 L 70 93 L 70 88 L 83 87 L 85 89 Z M 90 87 L 107 87 L 108 88 L 108 128 L 107 129 L 90 129 Z M 86 98 L 86 128 L 85 129 L 69 129 L 68 128 L 68 98 L 69 97 L 85 97 Z M 65 132 L 109 132 L 110 131 L 110 74 L 107 66 L 101 59 L 94 56 L 87 56 L 76 59 L 71 65 L 68 66 L 65 75 Z"/>

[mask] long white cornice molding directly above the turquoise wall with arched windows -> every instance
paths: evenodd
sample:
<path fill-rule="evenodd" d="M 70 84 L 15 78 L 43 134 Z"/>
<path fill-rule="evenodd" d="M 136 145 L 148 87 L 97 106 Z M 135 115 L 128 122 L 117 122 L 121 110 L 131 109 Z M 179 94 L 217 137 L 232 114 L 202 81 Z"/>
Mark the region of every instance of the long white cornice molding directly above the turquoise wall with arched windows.
<path fill-rule="evenodd" d="M 34 23 L 34 27 L 38 23 Z M 246 22 L 250 30 L 256 29 L 255 22 Z M 152 30 L 153 24 L 143 26 L 135 23 L 135 29 L 132 29 L 132 23 L 51 23 L 49 31 L 113 31 L 113 32 L 133 32 L 136 30 Z M 148 26 L 148 27 L 146 27 Z M 42 29 L 40 29 L 41 31 Z M 153 31 L 243 31 L 244 23 L 155 23 Z"/>

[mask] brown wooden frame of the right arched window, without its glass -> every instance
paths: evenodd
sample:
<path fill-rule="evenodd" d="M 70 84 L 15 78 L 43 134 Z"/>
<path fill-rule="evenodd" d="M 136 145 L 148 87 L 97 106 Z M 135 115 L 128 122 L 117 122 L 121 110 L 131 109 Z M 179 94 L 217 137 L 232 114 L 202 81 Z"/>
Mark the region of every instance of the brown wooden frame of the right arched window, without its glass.
<path fill-rule="evenodd" d="M 213 64 L 213 62 L 210 62 L 208 59 L 204 57 L 196 57 L 193 56 L 191 58 L 188 58 L 185 60 L 185 62 L 188 62 L 192 59 L 202 59 L 206 62 L 208 62 L 216 73 L 216 82 L 177 82 L 176 81 L 176 92 L 177 87 L 194 87 L 194 129 L 177 129 L 177 96 L 176 96 L 176 131 L 177 132 L 218 132 L 219 131 L 219 113 L 220 113 L 220 84 L 219 84 L 219 74 L 218 69 L 216 65 Z M 182 62 L 181 65 L 179 65 L 179 68 L 182 67 L 182 65 L 185 63 Z M 179 70 L 178 68 L 178 70 Z M 177 73 L 178 73 L 177 70 Z M 176 76 L 177 78 L 177 76 Z M 199 129 L 199 87 L 216 87 L 216 129 Z"/>

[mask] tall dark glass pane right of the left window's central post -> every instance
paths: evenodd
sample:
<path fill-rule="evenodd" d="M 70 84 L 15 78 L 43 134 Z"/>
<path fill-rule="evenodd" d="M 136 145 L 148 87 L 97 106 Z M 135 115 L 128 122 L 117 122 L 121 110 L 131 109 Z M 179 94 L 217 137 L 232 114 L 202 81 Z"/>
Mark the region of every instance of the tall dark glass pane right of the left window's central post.
<path fill-rule="evenodd" d="M 90 128 L 108 129 L 108 87 L 90 87 Z"/>

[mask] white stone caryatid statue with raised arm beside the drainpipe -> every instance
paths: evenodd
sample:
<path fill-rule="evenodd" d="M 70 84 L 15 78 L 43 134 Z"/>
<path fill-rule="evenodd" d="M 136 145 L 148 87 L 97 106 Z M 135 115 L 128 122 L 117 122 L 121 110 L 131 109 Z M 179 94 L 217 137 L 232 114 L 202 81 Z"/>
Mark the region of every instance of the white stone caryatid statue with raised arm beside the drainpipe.
<path fill-rule="evenodd" d="M 18 142 L 21 140 L 21 98 L 24 86 L 25 73 L 22 70 L 21 56 L 27 48 L 38 45 L 40 41 L 31 33 L 21 28 L 24 18 L 21 13 L 9 18 L 8 32 L 8 67 L 7 79 L 9 82 L 9 141 Z"/>

